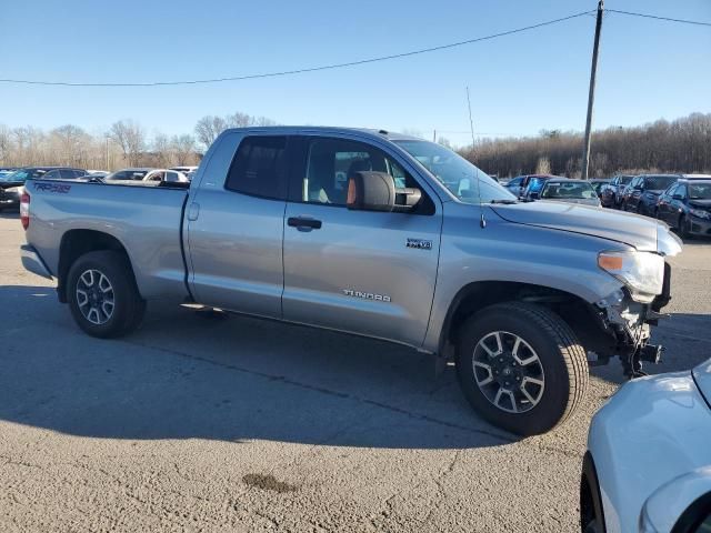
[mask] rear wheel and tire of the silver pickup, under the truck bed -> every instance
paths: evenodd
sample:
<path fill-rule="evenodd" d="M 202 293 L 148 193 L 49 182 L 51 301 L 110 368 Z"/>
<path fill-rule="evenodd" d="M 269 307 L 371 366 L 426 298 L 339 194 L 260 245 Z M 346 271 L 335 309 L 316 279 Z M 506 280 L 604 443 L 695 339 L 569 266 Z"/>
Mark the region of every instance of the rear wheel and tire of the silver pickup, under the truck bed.
<path fill-rule="evenodd" d="M 146 312 L 126 255 L 89 252 L 69 269 L 67 301 L 77 325 L 91 336 L 111 339 L 136 330 Z"/>

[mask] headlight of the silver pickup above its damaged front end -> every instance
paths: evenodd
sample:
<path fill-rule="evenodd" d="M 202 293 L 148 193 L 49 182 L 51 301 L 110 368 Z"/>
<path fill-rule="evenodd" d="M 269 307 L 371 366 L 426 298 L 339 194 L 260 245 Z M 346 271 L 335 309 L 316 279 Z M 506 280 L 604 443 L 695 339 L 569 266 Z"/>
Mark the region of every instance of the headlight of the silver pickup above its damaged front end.
<path fill-rule="evenodd" d="M 632 298 L 649 303 L 661 294 L 664 258 L 651 252 L 600 252 L 598 266 L 631 289 Z"/>

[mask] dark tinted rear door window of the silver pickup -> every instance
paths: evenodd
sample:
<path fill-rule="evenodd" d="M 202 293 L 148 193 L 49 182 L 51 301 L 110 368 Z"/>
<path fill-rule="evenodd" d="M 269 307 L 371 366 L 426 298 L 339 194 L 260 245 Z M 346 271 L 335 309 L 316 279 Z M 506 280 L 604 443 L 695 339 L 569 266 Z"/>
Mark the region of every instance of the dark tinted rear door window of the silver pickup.
<path fill-rule="evenodd" d="M 286 200 L 287 138 L 244 138 L 237 149 L 224 187 L 242 194 Z"/>

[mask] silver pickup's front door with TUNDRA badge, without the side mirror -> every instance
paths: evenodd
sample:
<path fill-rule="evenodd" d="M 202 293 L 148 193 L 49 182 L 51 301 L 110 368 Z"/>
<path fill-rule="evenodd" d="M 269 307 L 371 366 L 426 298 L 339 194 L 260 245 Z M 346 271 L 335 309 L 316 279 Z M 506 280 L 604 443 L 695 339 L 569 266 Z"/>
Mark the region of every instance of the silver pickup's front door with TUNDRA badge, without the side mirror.
<path fill-rule="evenodd" d="M 387 147 L 336 137 L 300 144 L 284 217 L 284 319 L 420 345 L 437 278 L 439 199 Z M 347 180 L 364 170 L 421 189 L 418 209 L 347 209 Z"/>

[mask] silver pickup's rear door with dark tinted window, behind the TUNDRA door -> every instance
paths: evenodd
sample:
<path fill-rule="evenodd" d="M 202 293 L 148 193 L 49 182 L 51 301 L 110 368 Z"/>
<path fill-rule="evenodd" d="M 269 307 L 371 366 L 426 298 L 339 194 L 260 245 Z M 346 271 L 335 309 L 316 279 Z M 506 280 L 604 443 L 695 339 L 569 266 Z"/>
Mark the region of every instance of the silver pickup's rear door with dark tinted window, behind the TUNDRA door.
<path fill-rule="evenodd" d="M 281 318 L 287 137 L 218 142 L 187 205 L 191 290 L 201 303 Z"/>

